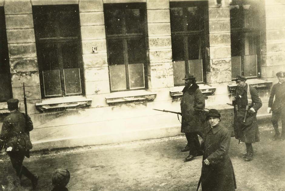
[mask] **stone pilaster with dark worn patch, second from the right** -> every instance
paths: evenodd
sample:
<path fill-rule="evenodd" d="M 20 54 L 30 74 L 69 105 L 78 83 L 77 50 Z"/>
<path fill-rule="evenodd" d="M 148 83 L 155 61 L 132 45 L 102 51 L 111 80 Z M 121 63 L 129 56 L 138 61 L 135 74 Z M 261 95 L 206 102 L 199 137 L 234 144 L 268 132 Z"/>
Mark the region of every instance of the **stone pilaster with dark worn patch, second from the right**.
<path fill-rule="evenodd" d="M 209 29 L 206 31 L 207 84 L 231 82 L 230 6 L 209 1 Z"/>

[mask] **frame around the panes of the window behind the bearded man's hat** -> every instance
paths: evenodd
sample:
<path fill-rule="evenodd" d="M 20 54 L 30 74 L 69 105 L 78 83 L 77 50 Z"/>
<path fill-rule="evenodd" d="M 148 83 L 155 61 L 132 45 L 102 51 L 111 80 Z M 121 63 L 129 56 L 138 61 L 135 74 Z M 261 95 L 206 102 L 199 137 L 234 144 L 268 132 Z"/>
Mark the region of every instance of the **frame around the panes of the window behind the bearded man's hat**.
<path fill-rule="evenodd" d="M 195 31 L 189 31 L 187 29 L 187 17 L 186 17 L 186 9 L 188 7 L 199 7 L 199 9 L 202 9 L 202 12 L 200 13 L 201 19 L 200 19 L 200 30 Z M 182 8 L 183 9 L 183 31 L 179 32 L 173 32 L 171 27 L 171 39 L 175 37 L 183 36 L 183 42 L 184 42 L 184 62 L 185 62 L 185 73 L 189 73 L 189 43 L 188 39 L 191 36 L 199 35 L 199 46 L 200 48 L 200 59 L 202 60 L 202 82 L 198 82 L 197 84 L 204 84 L 206 82 L 206 13 L 208 9 L 208 2 L 207 1 L 193 1 L 193 2 L 169 2 L 169 8 Z M 170 20 L 171 19 L 171 12 L 170 12 Z M 170 22 L 170 26 L 171 26 Z M 200 60 L 199 59 L 199 60 Z M 172 60 L 172 62 L 175 61 L 182 61 L 182 60 Z M 195 75 L 195 74 L 194 74 Z M 181 86 L 183 84 L 174 84 L 174 86 Z"/>

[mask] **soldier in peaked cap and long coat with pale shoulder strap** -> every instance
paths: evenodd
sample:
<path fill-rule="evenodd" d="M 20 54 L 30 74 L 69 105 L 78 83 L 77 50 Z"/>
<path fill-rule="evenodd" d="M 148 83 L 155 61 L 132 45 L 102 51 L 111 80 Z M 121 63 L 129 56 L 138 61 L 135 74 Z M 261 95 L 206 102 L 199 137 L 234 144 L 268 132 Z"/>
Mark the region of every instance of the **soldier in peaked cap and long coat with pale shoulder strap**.
<path fill-rule="evenodd" d="M 245 83 L 246 77 L 237 76 L 237 88 L 233 97 L 235 105 L 234 131 L 236 139 L 246 145 L 246 154 L 243 155 L 245 161 L 253 159 L 252 143 L 259 142 L 259 131 L 256 114 L 262 106 L 260 97 L 254 87 Z"/>

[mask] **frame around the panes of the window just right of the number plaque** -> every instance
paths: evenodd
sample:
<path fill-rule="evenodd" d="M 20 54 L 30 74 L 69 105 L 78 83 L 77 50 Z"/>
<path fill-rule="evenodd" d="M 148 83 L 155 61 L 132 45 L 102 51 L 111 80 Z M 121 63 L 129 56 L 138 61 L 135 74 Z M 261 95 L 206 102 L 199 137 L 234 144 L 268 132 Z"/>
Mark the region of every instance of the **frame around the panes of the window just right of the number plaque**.
<path fill-rule="evenodd" d="M 126 10 L 126 9 L 139 9 L 140 12 L 142 12 L 142 18 L 143 19 L 143 24 L 144 26 L 143 31 L 140 33 L 126 33 L 126 13 L 124 12 L 124 17 L 123 17 L 123 24 L 122 24 L 122 33 L 121 34 L 108 34 L 107 32 L 107 13 L 110 10 Z M 148 80 L 147 80 L 147 9 L 146 9 L 146 3 L 140 3 L 140 2 L 134 2 L 134 3 L 104 3 L 103 4 L 103 10 L 104 10 L 104 20 L 105 20 L 105 32 L 106 32 L 106 47 L 107 47 L 107 62 L 108 62 L 108 73 L 109 73 L 109 88 L 110 92 L 119 92 L 119 91 L 131 91 L 131 90 L 145 90 L 148 88 Z M 142 62 L 143 64 L 143 80 L 144 80 L 144 87 L 139 87 L 139 88 L 130 88 L 130 79 L 129 79 L 129 56 L 128 56 L 128 41 L 131 39 L 142 39 L 144 41 L 144 48 L 143 50 L 145 51 L 145 60 Z M 112 90 L 112 85 L 111 85 L 111 72 L 110 72 L 110 51 L 109 47 L 110 45 L 108 44 L 109 40 L 122 40 L 123 41 L 123 57 L 124 57 L 124 64 L 115 64 L 116 65 L 124 65 L 125 66 L 125 75 L 126 75 L 126 89 L 122 90 Z M 137 63 L 134 63 L 137 64 Z"/>

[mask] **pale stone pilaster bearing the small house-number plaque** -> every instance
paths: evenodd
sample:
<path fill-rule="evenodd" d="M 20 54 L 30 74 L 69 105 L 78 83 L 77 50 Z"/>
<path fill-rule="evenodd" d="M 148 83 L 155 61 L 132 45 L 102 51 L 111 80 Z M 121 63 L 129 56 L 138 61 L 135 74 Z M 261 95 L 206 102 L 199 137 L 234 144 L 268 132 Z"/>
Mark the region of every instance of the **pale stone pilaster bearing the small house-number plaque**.
<path fill-rule="evenodd" d="M 103 1 L 79 1 L 79 15 L 86 95 L 109 93 Z"/>

